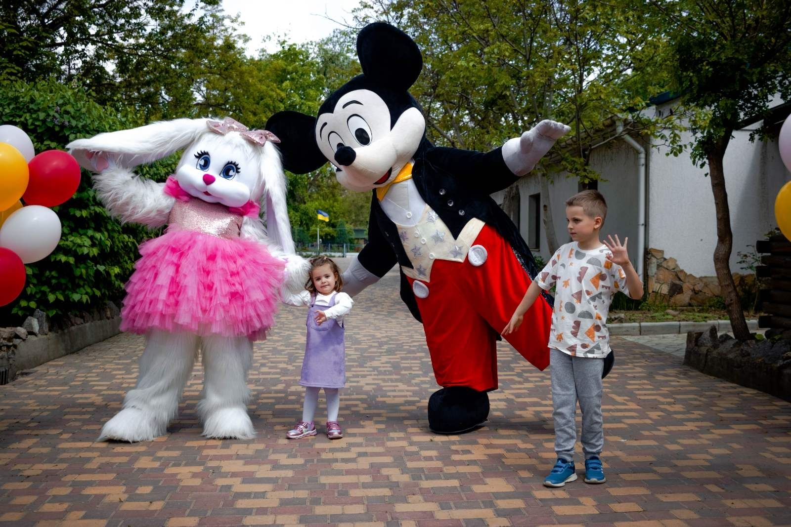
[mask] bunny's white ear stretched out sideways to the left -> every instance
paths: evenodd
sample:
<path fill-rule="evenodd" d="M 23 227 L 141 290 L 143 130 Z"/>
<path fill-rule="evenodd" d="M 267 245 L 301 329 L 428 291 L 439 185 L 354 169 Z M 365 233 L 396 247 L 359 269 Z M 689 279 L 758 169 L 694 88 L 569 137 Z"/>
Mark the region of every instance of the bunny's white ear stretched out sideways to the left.
<path fill-rule="evenodd" d="M 66 145 L 71 154 L 83 168 L 93 170 L 89 152 L 103 152 L 111 155 L 124 167 L 167 157 L 177 150 L 184 149 L 200 134 L 205 133 L 209 119 L 173 119 L 172 121 L 153 122 L 139 128 L 106 132 L 89 139 L 78 139 Z"/>

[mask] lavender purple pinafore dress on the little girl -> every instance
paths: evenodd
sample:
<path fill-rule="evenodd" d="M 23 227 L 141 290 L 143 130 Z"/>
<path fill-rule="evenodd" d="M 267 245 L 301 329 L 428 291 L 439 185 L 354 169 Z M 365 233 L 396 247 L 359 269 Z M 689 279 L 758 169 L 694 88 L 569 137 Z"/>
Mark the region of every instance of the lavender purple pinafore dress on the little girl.
<path fill-rule="evenodd" d="M 316 295 L 310 299 L 308 308 L 308 341 L 305 344 L 305 359 L 302 360 L 302 386 L 318 388 L 343 388 L 346 386 L 346 345 L 343 343 L 343 322 L 327 318 L 319 326 L 316 311 L 335 306 L 335 295 L 330 304 L 316 303 Z"/>

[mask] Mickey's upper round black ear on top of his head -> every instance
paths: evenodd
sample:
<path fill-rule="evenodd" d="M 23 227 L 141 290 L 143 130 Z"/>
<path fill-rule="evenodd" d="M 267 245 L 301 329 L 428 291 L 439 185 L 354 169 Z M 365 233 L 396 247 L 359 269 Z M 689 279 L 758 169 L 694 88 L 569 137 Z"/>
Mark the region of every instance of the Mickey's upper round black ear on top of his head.
<path fill-rule="evenodd" d="M 418 44 L 407 33 L 384 22 L 361 29 L 357 56 L 366 79 L 403 90 L 418 80 L 423 67 Z"/>

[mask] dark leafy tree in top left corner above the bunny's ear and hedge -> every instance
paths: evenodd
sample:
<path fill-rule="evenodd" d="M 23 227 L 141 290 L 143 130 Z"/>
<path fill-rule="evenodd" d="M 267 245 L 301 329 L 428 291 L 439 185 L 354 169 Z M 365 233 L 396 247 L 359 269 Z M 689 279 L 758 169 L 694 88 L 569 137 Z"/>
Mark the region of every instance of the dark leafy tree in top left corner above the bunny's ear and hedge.
<path fill-rule="evenodd" d="M 146 120 L 194 115 L 195 95 L 243 62 L 219 0 L 16 0 L 0 5 L 0 74 L 79 81 Z"/>

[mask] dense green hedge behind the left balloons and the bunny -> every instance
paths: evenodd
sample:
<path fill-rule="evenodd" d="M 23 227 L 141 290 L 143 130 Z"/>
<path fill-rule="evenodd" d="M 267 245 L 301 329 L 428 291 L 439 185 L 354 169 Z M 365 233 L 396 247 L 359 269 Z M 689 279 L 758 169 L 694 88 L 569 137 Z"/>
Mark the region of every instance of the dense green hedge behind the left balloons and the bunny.
<path fill-rule="evenodd" d="M 0 124 L 19 126 L 36 152 L 43 152 L 65 150 L 74 139 L 142 122 L 132 111 L 94 103 L 79 85 L 52 80 L 0 82 Z M 142 174 L 162 181 L 174 163 L 171 158 L 146 167 Z M 68 314 L 93 311 L 108 300 L 123 298 L 123 284 L 138 258 L 138 243 L 152 235 L 110 218 L 97 200 L 88 171 L 82 171 L 74 197 L 53 210 L 62 224 L 60 243 L 49 257 L 26 266 L 25 291 L 9 306 L 0 307 L 0 326 L 18 325 L 36 308 L 57 323 Z"/>

